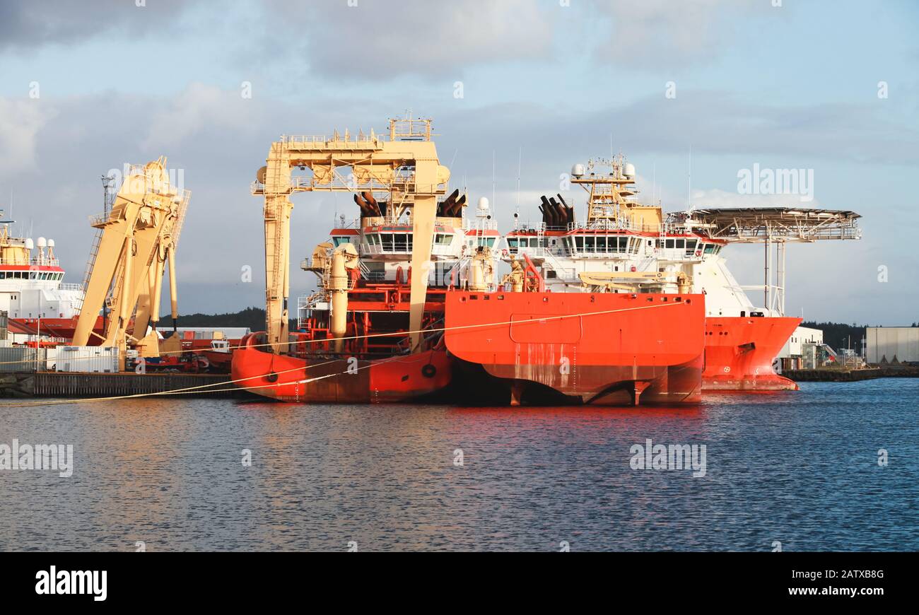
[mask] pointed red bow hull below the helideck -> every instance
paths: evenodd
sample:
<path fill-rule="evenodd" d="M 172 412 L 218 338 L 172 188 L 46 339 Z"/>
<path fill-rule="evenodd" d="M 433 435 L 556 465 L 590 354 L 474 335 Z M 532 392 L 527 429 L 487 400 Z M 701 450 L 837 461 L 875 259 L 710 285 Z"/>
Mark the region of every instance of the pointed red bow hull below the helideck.
<path fill-rule="evenodd" d="M 703 391 L 797 391 L 772 361 L 800 323 L 788 317 L 706 319 Z"/>

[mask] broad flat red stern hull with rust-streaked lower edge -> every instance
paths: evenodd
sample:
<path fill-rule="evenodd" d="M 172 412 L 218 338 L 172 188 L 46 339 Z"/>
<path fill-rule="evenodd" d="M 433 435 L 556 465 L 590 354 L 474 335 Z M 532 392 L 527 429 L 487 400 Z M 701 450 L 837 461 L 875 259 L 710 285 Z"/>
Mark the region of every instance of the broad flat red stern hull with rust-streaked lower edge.
<path fill-rule="evenodd" d="M 511 404 L 695 404 L 701 295 L 451 292 L 447 348 L 468 390 Z"/>

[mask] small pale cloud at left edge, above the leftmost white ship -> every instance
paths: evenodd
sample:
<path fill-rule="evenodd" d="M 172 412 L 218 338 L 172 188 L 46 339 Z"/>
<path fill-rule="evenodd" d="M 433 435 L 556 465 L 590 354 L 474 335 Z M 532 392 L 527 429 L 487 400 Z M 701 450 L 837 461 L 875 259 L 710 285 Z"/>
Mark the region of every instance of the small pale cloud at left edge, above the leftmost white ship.
<path fill-rule="evenodd" d="M 35 167 L 39 132 L 56 114 L 40 99 L 0 97 L 0 169 L 4 174 Z"/>

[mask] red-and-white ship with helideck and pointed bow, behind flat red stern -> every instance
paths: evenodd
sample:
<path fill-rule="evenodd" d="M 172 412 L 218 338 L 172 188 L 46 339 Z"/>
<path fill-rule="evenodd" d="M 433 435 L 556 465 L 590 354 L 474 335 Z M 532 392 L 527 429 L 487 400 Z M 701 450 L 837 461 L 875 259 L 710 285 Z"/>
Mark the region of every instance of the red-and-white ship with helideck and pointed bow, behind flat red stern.
<path fill-rule="evenodd" d="M 857 238 L 857 214 L 788 208 L 664 214 L 660 206 L 635 198 L 635 167 L 622 156 L 574 165 L 571 177 L 587 194 L 586 216 L 575 216 L 561 194 L 542 197 L 541 222 L 516 223 L 505 236 L 505 262 L 531 259 L 546 288 L 556 292 L 702 294 L 707 318 L 703 391 L 798 389 L 773 369 L 800 325 L 799 318 L 783 315 L 785 242 Z M 766 245 L 763 306 L 754 306 L 720 256 L 732 243 Z"/>

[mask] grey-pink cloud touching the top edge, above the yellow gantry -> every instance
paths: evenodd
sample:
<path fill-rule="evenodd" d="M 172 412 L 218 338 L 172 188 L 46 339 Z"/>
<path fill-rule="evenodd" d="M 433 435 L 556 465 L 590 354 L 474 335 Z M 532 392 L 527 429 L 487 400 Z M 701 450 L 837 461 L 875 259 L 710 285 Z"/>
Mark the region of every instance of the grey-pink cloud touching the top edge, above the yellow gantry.
<path fill-rule="evenodd" d="M 313 74 L 378 81 L 404 74 L 446 75 L 468 66 L 546 58 L 552 30 L 531 0 L 274 0 L 268 36 L 305 38 L 298 59 Z M 293 36 L 294 38 L 290 38 Z"/>

